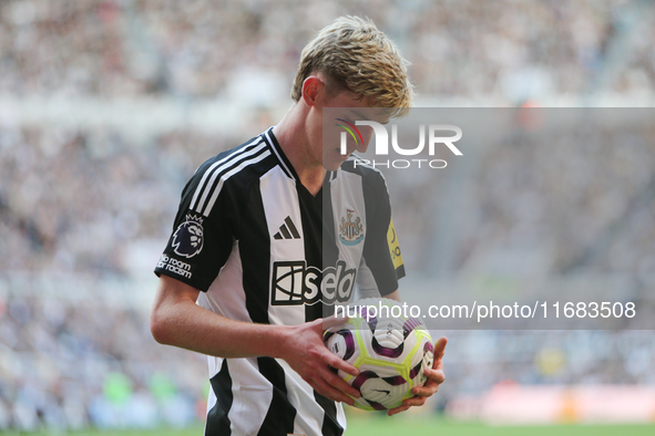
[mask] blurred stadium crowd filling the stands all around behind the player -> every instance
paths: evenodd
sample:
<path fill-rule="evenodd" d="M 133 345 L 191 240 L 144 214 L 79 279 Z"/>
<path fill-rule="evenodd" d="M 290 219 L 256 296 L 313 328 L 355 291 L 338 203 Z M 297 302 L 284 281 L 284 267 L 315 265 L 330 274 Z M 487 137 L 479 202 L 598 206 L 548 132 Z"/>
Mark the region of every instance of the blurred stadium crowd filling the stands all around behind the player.
<path fill-rule="evenodd" d="M 2 1 L 0 96 L 286 105 L 303 45 L 347 13 L 370 17 L 398 42 L 422 95 L 491 95 L 504 105 L 595 86 L 653 92 L 655 25 L 643 25 L 652 6 Z M 611 62 L 621 65 L 614 77 Z M 94 283 L 120 280 L 120 290 L 103 291 L 146 292 L 137 278 L 164 248 L 184 184 L 204 159 L 247 137 L 184 129 L 134 144 L 120 128 L 14 125 L 0 115 L 0 430 L 202 418 L 204 359 L 157 345 L 146 307 L 129 298 L 108 304 Z M 544 271 L 621 274 L 625 294 L 655 313 L 653 132 L 590 127 L 547 144 L 520 127 L 508 132 L 443 178 L 389 173 L 410 274 L 526 274 L 530 266 L 539 267 L 533 281 Z M 510 263 L 499 266 L 502 259 Z M 39 282 L 16 280 L 22 274 L 81 278 L 70 291 L 88 297 L 71 299 L 64 287 L 44 297 Z M 449 338 L 440 407 L 457 392 L 480 393 L 502 380 L 655 383 L 647 331 Z"/>

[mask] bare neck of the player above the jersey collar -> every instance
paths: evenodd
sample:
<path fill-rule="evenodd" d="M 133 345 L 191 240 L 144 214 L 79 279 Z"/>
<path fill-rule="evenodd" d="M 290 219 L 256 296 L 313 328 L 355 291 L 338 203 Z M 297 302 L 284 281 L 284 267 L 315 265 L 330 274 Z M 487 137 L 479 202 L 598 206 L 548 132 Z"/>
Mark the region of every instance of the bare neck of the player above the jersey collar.
<path fill-rule="evenodd" d="M 273 128 L 280 148 L 294 166 L 303 186 L 317 195 L 323 187 L 326 169 L 309 150 L 304 117 L 298 105 L 291 106 L 282 121 Z"/>

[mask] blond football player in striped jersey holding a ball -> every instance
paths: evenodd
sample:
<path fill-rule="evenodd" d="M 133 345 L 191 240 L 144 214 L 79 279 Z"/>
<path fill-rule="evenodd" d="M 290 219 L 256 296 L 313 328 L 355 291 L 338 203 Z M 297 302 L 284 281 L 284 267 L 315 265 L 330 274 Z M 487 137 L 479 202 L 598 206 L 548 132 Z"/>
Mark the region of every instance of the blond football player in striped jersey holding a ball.
<path fill-rule="evenodd" d="M 151 331 L 208 356 L 207 435 L 344 433 L 340 403 L 359 393 L 330 366 L 358 372 L 324 345 L 337 322 L 324 315 L 356 288 L 399 300 L 403 266 L 387 237 L 386 183 L 349 156 L 372 132 L 362 128 L 344 155 L 338 143 L 324 144 L 324 110 L 357 120 L 376 107 L 383 123 L 411 97 L 396 45 L 371 21 L 337 19 L 303 50 L 283 120 L 204 163 L 184 188 L 155 269 Z M 339 232 L 341 218 L 356 227 Z M 389 414 L 437 392 L 444 346 L 440 339 L 426 385 Z"/>

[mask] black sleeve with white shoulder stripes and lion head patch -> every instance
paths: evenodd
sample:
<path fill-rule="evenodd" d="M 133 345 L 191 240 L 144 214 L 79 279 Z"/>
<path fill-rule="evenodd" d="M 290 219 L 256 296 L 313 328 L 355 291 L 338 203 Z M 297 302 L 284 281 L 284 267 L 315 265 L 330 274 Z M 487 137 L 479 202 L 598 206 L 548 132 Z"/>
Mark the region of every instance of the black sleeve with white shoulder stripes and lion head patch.
<path fill-rule="evenodd" d="M 186 184 L 173 232 L 154 270 L 203 292 L 227 261 L 238 222 L 229 186 L 213 180 L 212 165 L 203 164 Z"/>

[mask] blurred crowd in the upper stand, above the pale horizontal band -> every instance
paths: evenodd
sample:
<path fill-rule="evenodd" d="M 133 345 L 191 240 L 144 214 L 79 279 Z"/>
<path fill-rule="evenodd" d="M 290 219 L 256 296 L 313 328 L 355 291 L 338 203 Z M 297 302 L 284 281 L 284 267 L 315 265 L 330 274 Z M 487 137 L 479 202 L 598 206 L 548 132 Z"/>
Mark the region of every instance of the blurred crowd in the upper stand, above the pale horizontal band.
<path fill-rule="evenodd" d="M 13 0 L 0 4 L 0 90 L 103 97 L 236 92 L 266 104 L 287 95 L 313 32 L 339 14 L 359 14 L 398 42 L 423 95 L 515 103 L 597 87 L 653 91 L 652 9 L 616 0 Z M 612 75 L 608 64 L 621 73 Z"/>

